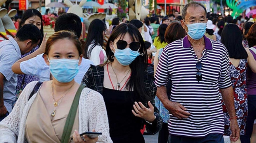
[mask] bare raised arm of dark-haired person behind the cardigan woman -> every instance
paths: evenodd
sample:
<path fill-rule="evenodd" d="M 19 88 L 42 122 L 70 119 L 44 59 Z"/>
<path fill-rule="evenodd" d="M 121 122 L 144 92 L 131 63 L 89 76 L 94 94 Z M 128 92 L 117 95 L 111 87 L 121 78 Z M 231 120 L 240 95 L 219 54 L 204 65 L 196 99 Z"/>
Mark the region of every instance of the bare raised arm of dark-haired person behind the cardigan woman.
<path fill-rule="evenodd" d="M 33 53 L 29 54 L 28 56 L 26 57 L 23 57 L 21 59 L 19 59 L 18 61 L 16 61 L 13 65 L 12 65 L 12 71 L 16 74 L 24 74 L 22 71 L 21 71 L 21 68 L 20 68 L 20 64 L 21 62 L 23 61 L 27 61 L 29 59 L 32 59 L 33 57 L 36 57 L 37 55 L 39 54 L 42 54 L 43 52 L 45 52 L 45 47 L 46 47 L 46 37 L 47 33 L 45 33 L 45 35 L 43 36 L 43 42 L 42 44 L 40 45 L 40 47 Z"/>

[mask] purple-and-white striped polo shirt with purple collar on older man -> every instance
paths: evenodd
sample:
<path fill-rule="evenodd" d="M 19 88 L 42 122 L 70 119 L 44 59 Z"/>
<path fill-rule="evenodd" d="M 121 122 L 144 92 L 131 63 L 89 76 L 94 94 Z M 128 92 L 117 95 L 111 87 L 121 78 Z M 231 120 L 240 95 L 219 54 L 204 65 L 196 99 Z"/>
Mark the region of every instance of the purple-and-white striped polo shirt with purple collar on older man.
<path fill-rule="evenodd" d="M 203 137 L 223 134 L 224 117 L 219 89 L 232 85 L 228 76 L 228 52 L 224 45 L 204 36 L 205 49 L 197 58 L 188 37 L 167 45 L 156 70 L 156 86 L 165 86 L 171 78 L 171 101 L 182 104 L 191 114 L 178 119 L 170 114 L 171 135 Z M 202 81 L 196 79 L 196 63 L 202 63 Z"/>

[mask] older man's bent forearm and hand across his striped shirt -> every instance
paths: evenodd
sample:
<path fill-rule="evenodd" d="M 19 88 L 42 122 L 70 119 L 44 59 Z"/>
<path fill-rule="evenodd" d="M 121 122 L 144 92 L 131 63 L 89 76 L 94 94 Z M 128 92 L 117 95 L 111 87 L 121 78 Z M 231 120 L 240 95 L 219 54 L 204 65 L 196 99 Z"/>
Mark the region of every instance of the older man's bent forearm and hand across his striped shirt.
<path fill-rule="evenodd" d="M 157 87 L 156 96 L 163 103 L 164 108 L 166 108 L 173 116 L 179 119 L 189 118 L 190 113 L 186 111 L 187 108 L 180 103 L 172 102 L 168 99 L 165 86 Z"/>

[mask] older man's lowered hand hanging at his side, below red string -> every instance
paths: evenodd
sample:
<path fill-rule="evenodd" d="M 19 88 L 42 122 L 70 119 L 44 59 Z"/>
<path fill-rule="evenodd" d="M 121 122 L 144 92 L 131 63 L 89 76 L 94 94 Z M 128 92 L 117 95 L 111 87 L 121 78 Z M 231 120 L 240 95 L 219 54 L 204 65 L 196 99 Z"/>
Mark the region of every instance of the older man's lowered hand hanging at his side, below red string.
<path fill-rule="evenodd" d="M 230 141 L 237 141 L 240 136 L 240 129 L 237 124 L 237 119 L 233 118 L 230 120 L 230 129 L 231 129 L 231 135 L 230 135 Z"/>

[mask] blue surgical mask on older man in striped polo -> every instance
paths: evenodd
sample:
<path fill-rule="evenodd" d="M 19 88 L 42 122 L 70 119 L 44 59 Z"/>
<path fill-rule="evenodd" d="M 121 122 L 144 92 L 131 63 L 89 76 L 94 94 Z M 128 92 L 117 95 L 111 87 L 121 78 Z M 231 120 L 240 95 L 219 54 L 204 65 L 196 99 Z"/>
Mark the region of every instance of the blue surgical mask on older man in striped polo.
<path fill-rule="evenodd" d="M 206 25 L 207 23 L 188 24 L 188 35 L 194 40 L 201 39 L 204 36 Z"/>

